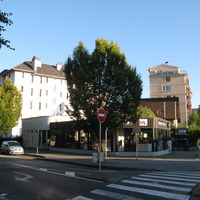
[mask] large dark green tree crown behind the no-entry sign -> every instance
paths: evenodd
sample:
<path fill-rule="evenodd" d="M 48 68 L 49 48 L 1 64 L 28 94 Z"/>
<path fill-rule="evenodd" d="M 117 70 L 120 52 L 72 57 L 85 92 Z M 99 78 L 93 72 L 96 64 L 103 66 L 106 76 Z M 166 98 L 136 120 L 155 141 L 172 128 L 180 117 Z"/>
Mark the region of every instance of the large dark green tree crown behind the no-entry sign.
<path fill-rule="evenodd" d="M 83 42 L 79 42 L 73 56 L 67 59 L 65 73 L 71 107 L 67 112 L 73 119 L 85 119 L 96 133 L 100 107 L 107 113 L 102 126 L 109 130 L 128 119 L 137 119 L 142 80 L 136 68 L 127 63 L 117 43 L 98 38 L 94 51 L 89 53 Z"/>

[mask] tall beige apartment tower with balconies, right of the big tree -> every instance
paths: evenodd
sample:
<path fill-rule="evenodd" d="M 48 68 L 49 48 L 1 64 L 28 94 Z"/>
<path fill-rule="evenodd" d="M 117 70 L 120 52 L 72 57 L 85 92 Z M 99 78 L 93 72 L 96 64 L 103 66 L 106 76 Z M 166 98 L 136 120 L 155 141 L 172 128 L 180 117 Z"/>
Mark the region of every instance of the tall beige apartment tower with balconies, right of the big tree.
<path fill-rule="evenodd" d="M 165 64 L 150 68 L 150 98 L 179 97 L 180 121 L 178 125 L 188 126 L 192 111 L 189 76 L 180 67 Z M 175 123 L 176 125 L 176 123 Z"/>

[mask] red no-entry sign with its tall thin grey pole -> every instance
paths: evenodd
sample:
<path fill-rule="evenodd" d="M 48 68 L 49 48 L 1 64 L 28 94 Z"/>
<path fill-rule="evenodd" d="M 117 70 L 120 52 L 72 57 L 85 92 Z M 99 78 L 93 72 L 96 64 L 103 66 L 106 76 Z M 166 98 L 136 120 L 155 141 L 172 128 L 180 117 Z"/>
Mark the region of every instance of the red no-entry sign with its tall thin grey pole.
<path fill-rule="evenodd" d="M 101 123 L 106 119 L 106 111 L 103 107 L 97 111 L 97 118 L 99 120 L 99 172 L 101 173 Z"/>

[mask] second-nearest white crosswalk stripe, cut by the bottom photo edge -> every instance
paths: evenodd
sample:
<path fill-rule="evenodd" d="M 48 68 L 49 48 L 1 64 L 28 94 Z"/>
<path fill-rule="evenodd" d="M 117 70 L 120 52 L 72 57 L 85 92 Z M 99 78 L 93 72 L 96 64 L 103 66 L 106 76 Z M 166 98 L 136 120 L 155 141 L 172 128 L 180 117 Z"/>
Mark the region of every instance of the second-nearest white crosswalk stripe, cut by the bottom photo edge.
<path fill-rule="evenodd" d="M 119 193 L 115 193 L 115 192 L 109 192 L 109 191 L 100 190 L 100 189 L 93 190 L 93 191 L 91 191 L 91 193 L 98 194 L 98 195 L 105 196 L 105 197 L 112 198 L 112 199 L 142 200 L 142 199 L 138 199 L 138 198 L 131 197 L 131 196 L 128 196 L 128 195 L 123 195 L 123 194 L 119 194 Z"/>

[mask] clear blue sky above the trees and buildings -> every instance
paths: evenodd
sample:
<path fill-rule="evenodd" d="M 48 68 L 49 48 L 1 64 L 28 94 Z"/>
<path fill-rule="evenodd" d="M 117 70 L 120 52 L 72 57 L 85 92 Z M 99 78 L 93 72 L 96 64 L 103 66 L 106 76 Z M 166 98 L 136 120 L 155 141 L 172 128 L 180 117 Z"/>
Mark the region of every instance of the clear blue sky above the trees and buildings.
<path fill-rule="evenodd" d="M 143 80 L 149 98 L 148 69 L 169 61 L 188 73 L 192 107 L 200 105 L 200 0 L 3 0 L 12 26 L 3 37 L 0 71 L 31 61 L 65 63 L 79 41 L 92 52 L 103 37 L 118 43 Z"/>

